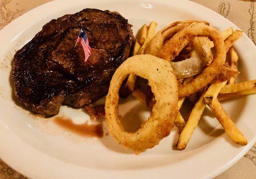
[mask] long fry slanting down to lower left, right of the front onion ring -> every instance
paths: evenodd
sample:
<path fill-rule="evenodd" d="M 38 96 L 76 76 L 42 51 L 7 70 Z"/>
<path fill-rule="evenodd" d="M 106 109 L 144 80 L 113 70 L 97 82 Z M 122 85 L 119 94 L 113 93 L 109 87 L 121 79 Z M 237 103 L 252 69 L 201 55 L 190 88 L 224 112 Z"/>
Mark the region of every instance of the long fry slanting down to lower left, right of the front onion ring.
<path fill-rule="evenodd" d="M 205 109 L 205 104 L 203 103 L 203 95 L 199 98 L 199 100 L 195 103 L 194 108 L 192 109 L 189 119 L 183 128 L 177 143 L 177 149 L 183 150 L 186 148 L 190 138 L 196 128 L 203 111 Z"/>

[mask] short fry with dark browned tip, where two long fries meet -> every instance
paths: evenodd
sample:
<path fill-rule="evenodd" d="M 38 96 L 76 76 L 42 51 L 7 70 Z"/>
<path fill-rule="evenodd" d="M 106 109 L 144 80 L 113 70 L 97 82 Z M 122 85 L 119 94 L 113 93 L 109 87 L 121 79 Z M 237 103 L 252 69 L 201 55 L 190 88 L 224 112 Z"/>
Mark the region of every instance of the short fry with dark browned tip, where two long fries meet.
<path fill-rule="evenodd" d="M 203 96 L 203 102 L 205 104 L 212 104 L 212 102 L 217 98 L 221 88 L 226 85 L 227 81 L 221 82 L 221 83 L 214 83 L 212 84 L 207 92 Z"/>

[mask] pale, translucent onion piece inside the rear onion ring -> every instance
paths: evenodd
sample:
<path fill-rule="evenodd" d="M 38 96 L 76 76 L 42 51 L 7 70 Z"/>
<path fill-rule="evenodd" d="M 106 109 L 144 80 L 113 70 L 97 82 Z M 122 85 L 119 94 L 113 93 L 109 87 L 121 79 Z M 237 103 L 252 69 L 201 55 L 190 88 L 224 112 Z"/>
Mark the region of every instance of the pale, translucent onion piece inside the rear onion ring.
<path fill-rule="evenodd" d="M 212 61 L 212 47 L 213 44 L 208 38 L 195 37 L 190 58 L 179 62 L 171 62 L 177 78 L 192 77 L 201 73 Z"/>

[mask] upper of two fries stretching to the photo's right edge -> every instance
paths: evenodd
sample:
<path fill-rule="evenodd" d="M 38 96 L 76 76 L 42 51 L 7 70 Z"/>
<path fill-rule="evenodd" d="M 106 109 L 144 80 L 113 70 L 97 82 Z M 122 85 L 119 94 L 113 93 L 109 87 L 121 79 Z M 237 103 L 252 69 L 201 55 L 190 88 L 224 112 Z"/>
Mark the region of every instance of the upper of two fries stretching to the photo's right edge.
<path fill-rule="evenodd" d="M 220 94 L 237 93 L 237 92 L 241 92 L 244 90 L 250 90 L 253 88 L 256 88 L 256 80 L 245 81 L 245 82 L 237 83 L 237 84 L 225 85 L 221 89 Z"/>

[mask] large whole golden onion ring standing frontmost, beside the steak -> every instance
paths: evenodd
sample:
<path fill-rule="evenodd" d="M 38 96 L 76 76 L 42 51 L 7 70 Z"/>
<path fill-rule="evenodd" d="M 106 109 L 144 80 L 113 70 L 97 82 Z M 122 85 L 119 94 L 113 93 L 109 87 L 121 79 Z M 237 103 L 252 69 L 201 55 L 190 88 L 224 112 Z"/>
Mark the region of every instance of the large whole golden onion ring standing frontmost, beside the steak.
<path fill-rule="evenodd" d="M 119 88 L 129 74 L 148 79 L 156 103 L 149 119 L 137 132 L 125 132 L 117 118 Z M 137 153 L 158 145 L 170 134 L 178 112 L 178 85 L 171 64 L 152 55 L 135 55 L 124 61 L 110 82 L 105 103 L 106 124 L 111 135 Z"/>

